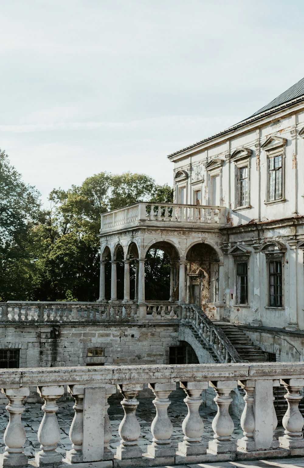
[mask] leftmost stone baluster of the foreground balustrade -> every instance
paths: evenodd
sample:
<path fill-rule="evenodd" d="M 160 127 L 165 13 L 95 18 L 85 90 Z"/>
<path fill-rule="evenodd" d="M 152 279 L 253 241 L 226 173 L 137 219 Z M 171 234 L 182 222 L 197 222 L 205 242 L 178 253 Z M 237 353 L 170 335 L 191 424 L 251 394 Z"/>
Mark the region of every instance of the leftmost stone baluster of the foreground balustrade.
<path fill-rule="evenodd" d="M 28 457 L 23 452 L 26 441 L 25 431 L 21 422 L 24 411 L 22 401 L 30 395 L 30 389 L 3 388 L 2 393 L 8 398 L 6 409 L 9 413 L 9 421 L 4 432 L 5 452 L 0 455 L 1 467 L 25 467 L 28 465 Z"/>

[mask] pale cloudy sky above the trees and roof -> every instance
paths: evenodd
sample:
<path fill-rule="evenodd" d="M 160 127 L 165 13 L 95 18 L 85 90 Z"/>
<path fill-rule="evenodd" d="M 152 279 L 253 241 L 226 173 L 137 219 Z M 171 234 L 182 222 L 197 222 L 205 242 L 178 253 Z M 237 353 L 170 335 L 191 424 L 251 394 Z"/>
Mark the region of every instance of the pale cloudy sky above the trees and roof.
<path fill-rule="evenodd" d="M 304 76 L 303 0 L 0 0 L 0 148 L 47 206 L 167 159 Z"/>

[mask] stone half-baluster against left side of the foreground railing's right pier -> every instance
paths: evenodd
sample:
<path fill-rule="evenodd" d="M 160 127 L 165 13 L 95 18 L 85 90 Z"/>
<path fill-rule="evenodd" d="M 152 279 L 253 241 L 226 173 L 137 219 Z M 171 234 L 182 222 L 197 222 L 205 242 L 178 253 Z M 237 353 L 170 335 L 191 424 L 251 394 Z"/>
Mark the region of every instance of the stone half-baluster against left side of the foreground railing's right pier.
<path fill-rule="evenodd" d="M 238 381 L 243 390 L 245 390 L 245 408 L 241 416 L 241 427 L 243 429 L 244 437 L 237 440 L 237 446 L 239 451 L 252 452 L 255 450 L 254 442 L 254 429 L 255 429 L 255 420 L 254 420 L 254 380 L 242 380 Z"/>

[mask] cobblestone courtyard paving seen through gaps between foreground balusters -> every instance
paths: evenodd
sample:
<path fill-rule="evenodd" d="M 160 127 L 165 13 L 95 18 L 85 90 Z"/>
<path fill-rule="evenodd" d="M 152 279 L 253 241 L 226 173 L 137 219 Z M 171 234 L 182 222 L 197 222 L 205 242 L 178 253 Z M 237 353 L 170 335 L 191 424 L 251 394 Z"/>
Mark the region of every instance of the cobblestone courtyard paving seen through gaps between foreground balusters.
<path fill-rule="evenodd" d="M 173 424 L 172 433 L 172 445 L 178 447 L 178 442 L 183 440 L 184 433 L 182 431 L 182 422 L 187 414 L 187 408 L 184 403 L 185 393 L 182 390 L 177 390 L 171 394 L 171 405 L 168 408 L 168 416 Z M 153 395 L 149 398 L 139 398 L 140 404 L 136 411 L 138 422 L 141 426 L 141 436 L 139 438 L 139 445 L 142 447 L 143 453 L 147 452 L 147 445 L 152 442 L 152 434 L 150 431 L 151 422 L 153 421 L 156 410 L 152 403 Z M 118 427 L 123 418 L 124 411 L 120 404 L 121 397 L 119 395 L 112 395 L 109 398 L 110 408 L 108 414 L 112 425 L 112 439 L 110 441 L 110 447 L 113 452 L 116 452 L 116 447 L 119 445 L 120 437 L 118 434 Z M 60 402 L 58 401 L 59 409 L 57 411 L 57 419 L 61 432 L 61 439 L 58 446 L 58 451 L 65 456 L 67 450 L 70 450 L 71 441 L 69 439 L 69 430 L 74 417 L 74 400 Z M 5 409 L 5 404 L 0 404 L 0 453 L 4 451 L 3 434 L 7 427 L 8 413 Z M 37 439 L 37 432 L 39 424 L 43 417 L 43 411 L 41 410 L 42 403 L 25 403 L 25 411 L 22 415 L 22 422 L 26 432 L 26 443 L 24 453 L 29 458 L 35 457 L 35 452 L 40 449 L 40 444 Z M 211 440 L 213 438 L 213 430 L 211 427 L 212 420 L 215 417 L 216 411 L 204 408 L 203 405 L 200 407 L 200 416 L 204 422 L 204 436 L 206 439 Z M 236 417 L 232 417 L 235 425 L 233 431 L 233 438 L 239 439 L 243 437 L 243 431 L 240 427 L 239 420 Z M 283 428 L 279 427 L 276 430 L 276 437 L 283 435 Z"/>

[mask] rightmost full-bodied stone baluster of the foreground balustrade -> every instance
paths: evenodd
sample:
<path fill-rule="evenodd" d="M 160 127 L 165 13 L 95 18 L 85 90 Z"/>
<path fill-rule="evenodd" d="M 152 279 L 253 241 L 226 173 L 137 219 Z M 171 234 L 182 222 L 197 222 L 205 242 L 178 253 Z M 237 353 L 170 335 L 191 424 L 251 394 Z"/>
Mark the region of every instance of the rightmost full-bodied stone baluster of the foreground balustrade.
<path fill-rule="evenodd" d="M 282 419 L 285 431 L 284 436 L 279 437 L 280 446 L 290 449 L 303 449 L 304 439 L 302 438 L 301 431 L 304 420 L 299 411 L 299 402 L 302 398 L 299 392 L 304 386 L 304 379 L 281 379 L 280 382 L 287 390 L 284 398 L 286 398 L 288 403 L 287 411 Z"/>

